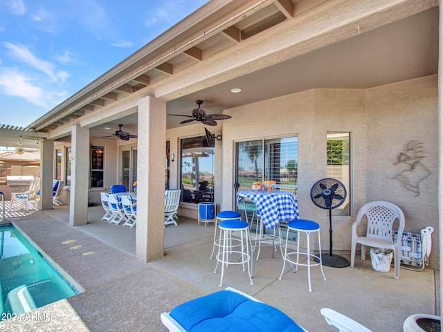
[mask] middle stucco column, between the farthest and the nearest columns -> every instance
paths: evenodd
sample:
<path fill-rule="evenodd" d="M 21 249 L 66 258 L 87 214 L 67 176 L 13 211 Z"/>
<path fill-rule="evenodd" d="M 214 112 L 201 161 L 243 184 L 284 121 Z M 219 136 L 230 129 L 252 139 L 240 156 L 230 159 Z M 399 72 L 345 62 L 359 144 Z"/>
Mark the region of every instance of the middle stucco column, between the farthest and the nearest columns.
<path fill-rule="evenodd" d="M 89 128 L 72 127 L 71 201 L 69 225 L 88 223 L 89 194 Z"/>

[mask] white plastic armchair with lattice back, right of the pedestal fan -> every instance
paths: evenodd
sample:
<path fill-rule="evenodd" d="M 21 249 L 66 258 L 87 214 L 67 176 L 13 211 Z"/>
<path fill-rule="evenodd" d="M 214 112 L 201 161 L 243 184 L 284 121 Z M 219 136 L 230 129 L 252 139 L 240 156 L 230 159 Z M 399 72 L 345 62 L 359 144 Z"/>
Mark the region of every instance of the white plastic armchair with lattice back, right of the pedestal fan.
<path fill-rule="evenodd" d="M 364 218 L 366 216 L 366 218 Z M 357 227 L 359 224 L 368 220 L 368 227 L 365 237 L 359 237 Z M 394 252 L 395 279 L 400 277 L 400 259 L 401 259 L 401 237 L 397 237 L 394 242 L 394 222 L 398 220 L 398 234 L 404 231 L 404 214 L 401 209 L 392 203 L 385 201 L 373 201 L 363 205 L 356 220 L 352 224 L 352 248 L 351 248 L 351 267 L 354 267 L 355 250 L 357 243 L 361 244 L 361 260 L 366 258 L 365 246 L 374 248 L 392 249 Z"/>

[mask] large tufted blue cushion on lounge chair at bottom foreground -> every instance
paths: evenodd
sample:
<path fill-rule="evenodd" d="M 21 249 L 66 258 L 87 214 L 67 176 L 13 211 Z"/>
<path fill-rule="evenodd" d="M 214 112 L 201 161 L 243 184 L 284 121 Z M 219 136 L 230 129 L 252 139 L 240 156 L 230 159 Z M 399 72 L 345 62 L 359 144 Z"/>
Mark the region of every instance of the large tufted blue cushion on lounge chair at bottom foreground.
<path fill-rule="evenodd" d="M 192 299 L 170 316 L 188 332 L 302 332 L 282 311 L 231 291 Z"/>

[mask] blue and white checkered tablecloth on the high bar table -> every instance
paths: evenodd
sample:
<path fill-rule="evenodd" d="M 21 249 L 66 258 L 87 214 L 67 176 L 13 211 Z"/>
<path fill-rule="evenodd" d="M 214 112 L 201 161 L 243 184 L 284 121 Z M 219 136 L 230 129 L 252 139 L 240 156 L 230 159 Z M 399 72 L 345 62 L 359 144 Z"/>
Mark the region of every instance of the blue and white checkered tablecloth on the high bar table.
<path fill-rule="evenodd" d="M 237 205 L 244 197 L 257 206 L 257 214 L 262 217 L 267 230 L 277 226 L 280 221 L 300 219 L 297 199 L 291 192 L 237 192 Z"/>

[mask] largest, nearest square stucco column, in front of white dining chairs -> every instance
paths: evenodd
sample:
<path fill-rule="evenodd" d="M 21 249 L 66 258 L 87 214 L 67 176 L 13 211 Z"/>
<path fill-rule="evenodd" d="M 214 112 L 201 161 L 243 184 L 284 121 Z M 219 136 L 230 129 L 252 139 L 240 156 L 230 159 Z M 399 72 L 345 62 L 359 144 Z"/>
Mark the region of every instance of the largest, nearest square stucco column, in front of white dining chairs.
<path fill-rule="evenodd" d="M 166 103 L 138 101 L 136 257 L 163 257 L 166 159 Z M 170 227 L 174 227 L 173 225 Z"/>

